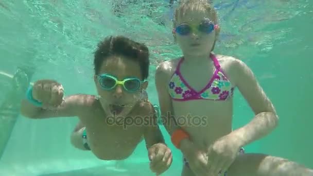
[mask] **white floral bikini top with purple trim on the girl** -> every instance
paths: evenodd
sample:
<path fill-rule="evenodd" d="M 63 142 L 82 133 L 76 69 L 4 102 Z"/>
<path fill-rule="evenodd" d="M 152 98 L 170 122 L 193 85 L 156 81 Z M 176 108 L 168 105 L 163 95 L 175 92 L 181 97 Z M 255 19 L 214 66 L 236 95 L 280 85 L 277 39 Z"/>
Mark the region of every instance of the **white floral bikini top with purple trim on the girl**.
<path fill-rule="evenodd" d="M 183 62 L 183 58 L 180 59 L 176 71 L 168 84 L 169 94 L 173 100 L 227 100 L 233 96 L 234 87 L 220 69 L 220 65 L 216 57 L 213 54 L 211 54 L 210 57 L 214 62 L 216 70 L 211 80 L 200 92 L 195 91 L 181 75 L 180 65 Z"/>

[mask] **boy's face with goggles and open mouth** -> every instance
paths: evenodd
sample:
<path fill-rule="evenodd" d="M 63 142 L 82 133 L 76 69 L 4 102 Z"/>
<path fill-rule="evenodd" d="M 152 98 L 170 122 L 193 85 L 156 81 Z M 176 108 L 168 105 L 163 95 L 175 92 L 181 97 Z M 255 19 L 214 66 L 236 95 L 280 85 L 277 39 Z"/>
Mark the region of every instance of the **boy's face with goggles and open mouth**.
<path fill-rule="evenodd" d="M 131 78 L 124 82 L 126 89 L 122 84 L 113 87 L 116 82 L 114 79 L 123 81 L 126 78 Z M 123 56 L 111 56 L 103 61 L 99 74 L 94 80 L 98 94 L 101 96 L 102 108 L 108 116 L 128 115 L 140 99 L 142 89 L 145 90 L 148 86 L 148 82 L 140 82 L 143 81 L 140 65 Z"/>

